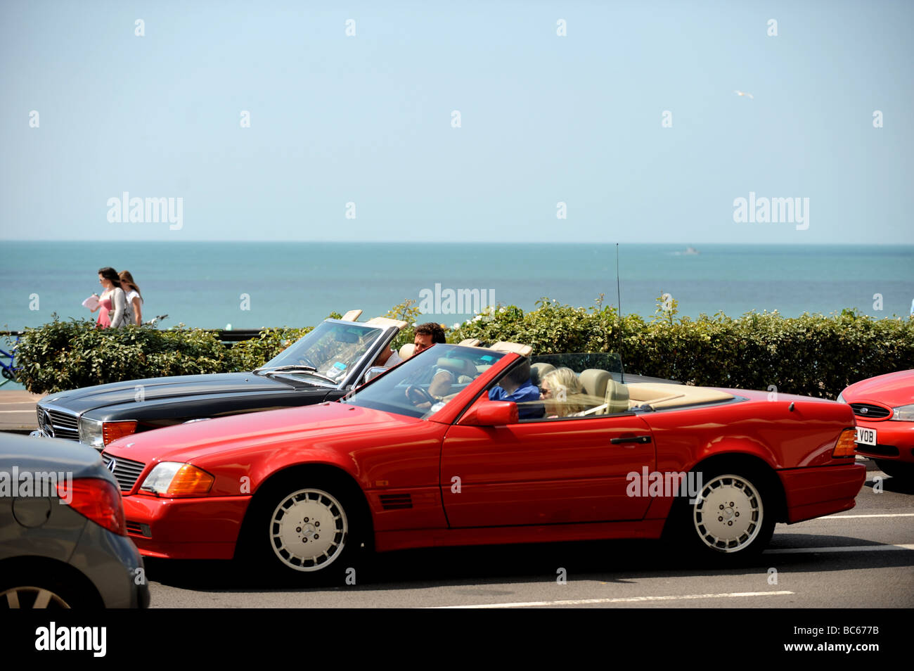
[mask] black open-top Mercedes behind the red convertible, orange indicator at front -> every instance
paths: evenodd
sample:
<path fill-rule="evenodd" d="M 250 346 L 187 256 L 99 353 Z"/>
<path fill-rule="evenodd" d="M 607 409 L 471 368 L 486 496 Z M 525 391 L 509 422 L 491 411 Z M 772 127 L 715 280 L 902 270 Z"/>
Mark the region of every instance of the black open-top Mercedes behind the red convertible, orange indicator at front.
<path fill-rule="evenodd" d="M 327 319 L 250 373 L 137 379 L 50 394 L 37 404 L 32 435 L 101 450 L 122 436 L 172 424 L 339 399 L 366 379 L 405 325 L 384 317 Z"/>

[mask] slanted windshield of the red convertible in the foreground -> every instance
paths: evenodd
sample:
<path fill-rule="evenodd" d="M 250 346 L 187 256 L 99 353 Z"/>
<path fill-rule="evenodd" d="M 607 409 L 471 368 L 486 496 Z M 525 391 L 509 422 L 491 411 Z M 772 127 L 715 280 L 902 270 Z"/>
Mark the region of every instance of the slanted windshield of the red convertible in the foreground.
<path fill-rule="evenodd" d="M 372 380 L 343 402 L 424 419 L 441 410 L 504 356 L 480 347 L 435 345 Z"/>

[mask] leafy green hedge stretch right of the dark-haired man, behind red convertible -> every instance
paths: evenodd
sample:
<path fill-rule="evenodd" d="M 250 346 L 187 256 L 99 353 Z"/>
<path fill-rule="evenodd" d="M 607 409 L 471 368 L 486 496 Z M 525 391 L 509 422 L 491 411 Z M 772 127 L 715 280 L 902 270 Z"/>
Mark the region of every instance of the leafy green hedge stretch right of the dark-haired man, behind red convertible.
<path fill-rule="evenodd" d="M 621 333 L 620 333 L 621 331 Z M 914 368 L 914 319 L 841 314 L 718 313 L 696 320 L 657 310 L 620 320 L 613 308 L 571 307 L 542 299 L 524 313 L 514 306 L 489 310 L 461 325 L 449 340 L 527 343 L 537 354 L 620 352 L 625 370 L 686 384 L 834 399 L 847 385 Z"/>

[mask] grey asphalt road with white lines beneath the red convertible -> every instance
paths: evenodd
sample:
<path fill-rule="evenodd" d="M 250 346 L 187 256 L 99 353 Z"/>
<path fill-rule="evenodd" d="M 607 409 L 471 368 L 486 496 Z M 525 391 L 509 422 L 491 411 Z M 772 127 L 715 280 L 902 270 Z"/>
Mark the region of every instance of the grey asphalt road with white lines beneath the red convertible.
<path fill-rule="evenodd" d="M 739 569 L 626 540 L 383 553 L 356 584 L 324 589 L 277 586 L 231 561 L 147 559 L 146 575 L 153 608 L 911 608 L 914 486 L 868 470 L 856 503 L 779 524 Z"/>

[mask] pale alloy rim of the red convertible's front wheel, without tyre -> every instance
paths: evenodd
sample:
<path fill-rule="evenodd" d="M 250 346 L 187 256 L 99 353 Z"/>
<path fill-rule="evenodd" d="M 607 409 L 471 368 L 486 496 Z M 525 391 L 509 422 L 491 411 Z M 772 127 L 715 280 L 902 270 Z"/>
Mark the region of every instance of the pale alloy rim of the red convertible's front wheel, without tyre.
<path fill-rule="evenodd" d="M 270 546 L 290 569 L 318 571 L 343 553 L 348 531 L 339 501 L 321 489 L 300 489 L 273 510 Z"/>

